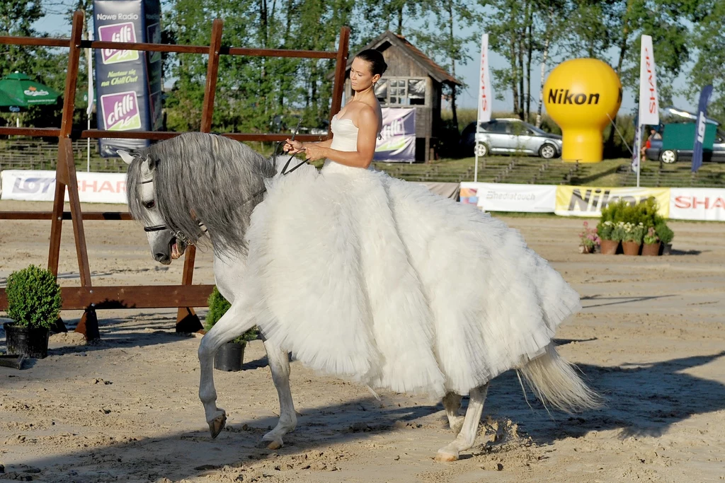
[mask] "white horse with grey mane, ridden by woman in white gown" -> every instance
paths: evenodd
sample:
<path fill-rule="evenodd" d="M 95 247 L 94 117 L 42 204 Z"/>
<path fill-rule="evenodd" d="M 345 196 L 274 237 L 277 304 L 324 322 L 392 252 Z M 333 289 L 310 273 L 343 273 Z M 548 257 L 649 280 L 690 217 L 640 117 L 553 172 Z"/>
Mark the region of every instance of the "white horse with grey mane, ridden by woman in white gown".
<path fill-rule="evenodd" d="M 230 240 L 244 245 L 241 240 L 252 211 L 264 199 L 265 183 L 277 175 L 275 163 L 241 143 L 199 133 L 157 143 L 133 156 L 119 153 L 129 164 L 130 211 L 144 223 L 154 259 L 170 264 L 183 254 L 187 243 L 208 240 L 214 248 L 215 282 L 231 308 L 199 345 L 199 398 L 212 437 L 217 437 L 225 426 L 226 413 L 216 406 L 215 352 L 257 324 L 248 310 L 254 301 L 249 300 L 249 293 L 243 289 L 247 247 L 231 251 L 228 246 Z M 283 445 L 285 434 L 294 430 L 297 416 L 289 387 L 288 352 L 262 340 L 280 402 L 278 424 L 262 440 L 268 442 L 268 448 L 276 449 Z M 599 405 L 597 395 L 558 356 L 552 344 L 545 347 L 542 355 L 515 369 L 544 403 L 563 411 Z M 485 382 L 469 391 L 465 416 L 458 415 L 462 396 L 455 392 L 444 395 L 443 406 L 455 439 L 438 451 L 436 460 L 455 461 L 461 451 L 473 446 L 488 387 L 489 382 Z"/>

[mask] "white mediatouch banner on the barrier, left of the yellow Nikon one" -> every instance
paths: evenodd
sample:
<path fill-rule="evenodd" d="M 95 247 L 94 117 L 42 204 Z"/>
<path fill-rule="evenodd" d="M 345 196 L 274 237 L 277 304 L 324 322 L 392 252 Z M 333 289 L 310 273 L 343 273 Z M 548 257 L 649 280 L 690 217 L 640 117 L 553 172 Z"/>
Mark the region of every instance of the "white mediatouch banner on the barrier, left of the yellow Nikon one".
<path fill-rule="evenodd" d="M 484 211 L 552 213 L 556 205 L 556 186 L 462 182 L 460 201 L 475 204 Z"/>

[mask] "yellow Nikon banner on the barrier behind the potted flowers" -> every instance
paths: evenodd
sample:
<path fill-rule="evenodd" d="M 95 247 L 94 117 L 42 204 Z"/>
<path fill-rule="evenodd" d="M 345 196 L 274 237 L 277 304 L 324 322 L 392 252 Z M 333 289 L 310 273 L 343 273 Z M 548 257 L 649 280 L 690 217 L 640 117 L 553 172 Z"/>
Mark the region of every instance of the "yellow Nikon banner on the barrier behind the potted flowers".
<path fill-rule="evenodd" d="M 658 212 L 667 218 L 670 188 L 597 188 L 592 186 L 556 187 L 555 213 L 562 217 L 601 217 L 602 208 L 619 200 L 642 203 L 655 198 Z"/>

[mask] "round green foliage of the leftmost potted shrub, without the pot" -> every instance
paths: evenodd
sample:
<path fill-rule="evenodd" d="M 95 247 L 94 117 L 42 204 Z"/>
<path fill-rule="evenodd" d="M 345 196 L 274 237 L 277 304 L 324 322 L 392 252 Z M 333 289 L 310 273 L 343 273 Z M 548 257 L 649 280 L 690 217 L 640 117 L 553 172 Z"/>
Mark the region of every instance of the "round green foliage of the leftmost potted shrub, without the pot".
<path fill-rule="evenodd" d="M 36 265 L 7 278 L 7 316 L 23 327 L 49 329 L 60 312 L 60 287 L 55 276 Z"/>

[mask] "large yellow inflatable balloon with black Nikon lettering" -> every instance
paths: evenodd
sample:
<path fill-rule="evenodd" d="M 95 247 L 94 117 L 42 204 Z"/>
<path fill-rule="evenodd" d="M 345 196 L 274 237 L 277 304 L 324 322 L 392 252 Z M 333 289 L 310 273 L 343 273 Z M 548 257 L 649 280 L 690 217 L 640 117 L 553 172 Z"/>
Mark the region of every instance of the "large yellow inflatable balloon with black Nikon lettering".
<path fill-rule="evenodd" d="M 561 159 L 602 161 L 602 130 L 622 103 L 622 83 L 605 62 L 571 59 L 562 62 L 544 83 L 544 105 L 562 130 Z"/>

